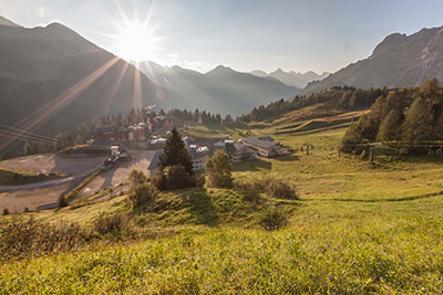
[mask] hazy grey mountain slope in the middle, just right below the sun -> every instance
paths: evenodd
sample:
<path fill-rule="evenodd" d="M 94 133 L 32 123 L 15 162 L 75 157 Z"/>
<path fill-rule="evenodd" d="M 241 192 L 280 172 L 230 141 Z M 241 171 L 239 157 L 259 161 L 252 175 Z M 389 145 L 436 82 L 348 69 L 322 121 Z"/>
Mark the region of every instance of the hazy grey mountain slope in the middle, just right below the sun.
<path fill-rule="evenodd" d="M 153 82 L 179 94 L 184 103 L 178 106 L 188 109 L 240 115 L 257 105 L 293 97 L 299 92 L 272 77 L 258 77 L 223 65 L 205 74 L 179 66 L 163 67 L 153 62 L 137 66 Z"/>

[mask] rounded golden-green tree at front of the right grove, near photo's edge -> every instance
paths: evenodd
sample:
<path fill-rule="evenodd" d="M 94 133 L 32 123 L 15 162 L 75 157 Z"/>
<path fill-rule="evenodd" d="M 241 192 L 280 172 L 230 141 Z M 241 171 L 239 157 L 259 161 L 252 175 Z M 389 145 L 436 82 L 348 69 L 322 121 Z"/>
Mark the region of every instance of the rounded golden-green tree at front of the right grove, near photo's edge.
<path fill-rule="evenodd" d="M 402 139 L 421 143 L 433 136 L 434 114 L 431 102 L 419 96 L 412 103 L 403 123 Z"/>

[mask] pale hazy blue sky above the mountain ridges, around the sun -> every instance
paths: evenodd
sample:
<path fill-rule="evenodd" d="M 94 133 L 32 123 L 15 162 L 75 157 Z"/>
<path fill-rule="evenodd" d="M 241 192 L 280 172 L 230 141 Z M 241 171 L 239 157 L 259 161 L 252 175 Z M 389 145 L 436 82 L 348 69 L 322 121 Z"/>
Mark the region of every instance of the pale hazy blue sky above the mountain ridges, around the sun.
<path fill-rule="evenodd" d="M 115 39 L 123 15 L 147 18 L 155 44 L 145 60 L 202 72 L 218 64 L 334 72 L 390 33 L 442 25 L 443 1 L 0 0 L 0 15 L 24 27 L 61 22 L 117 55 L 125 54 Z"/>

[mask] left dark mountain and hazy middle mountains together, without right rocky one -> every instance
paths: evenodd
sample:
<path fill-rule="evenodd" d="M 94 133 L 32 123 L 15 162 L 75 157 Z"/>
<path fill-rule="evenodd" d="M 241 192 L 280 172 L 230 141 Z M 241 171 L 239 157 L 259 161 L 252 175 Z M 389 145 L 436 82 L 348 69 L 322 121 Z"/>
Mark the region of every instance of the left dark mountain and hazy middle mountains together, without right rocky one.
<path fill-rule="evenodd" d="M 61 23 L 28 29 L 0 18 L 0 123 L 53 136 L 132 107 L 236 116 L 299 92 L 224 66 L 206 74 L 141 69 L 145 74 Z"/>

